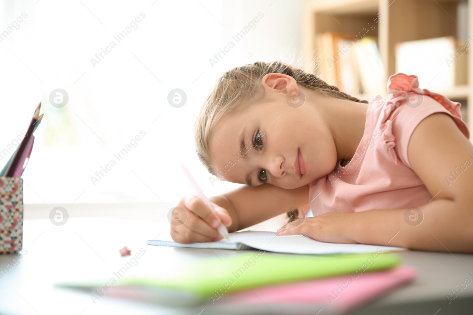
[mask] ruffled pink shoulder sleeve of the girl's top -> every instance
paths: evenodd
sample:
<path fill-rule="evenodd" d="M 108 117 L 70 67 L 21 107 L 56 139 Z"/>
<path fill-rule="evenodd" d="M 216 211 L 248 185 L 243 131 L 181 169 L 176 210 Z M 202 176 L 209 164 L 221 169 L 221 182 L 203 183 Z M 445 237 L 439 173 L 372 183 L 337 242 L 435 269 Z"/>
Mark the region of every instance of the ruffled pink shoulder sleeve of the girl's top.
<path fill-rule="evenodd" d="M 384 135 L 384 149 L 395 164 L 403 162 L 411 167 L 407 159 L 409 139 L 420 121 L 432 113 L 450 114 L 462 133 L 470 137 L 462 120 L 461 104 L 442 94 L 420 89 L 417 76 L 396 73 L 389 77 L 386 88 L 390 95 L 381 109 L 378 127 Z"/>

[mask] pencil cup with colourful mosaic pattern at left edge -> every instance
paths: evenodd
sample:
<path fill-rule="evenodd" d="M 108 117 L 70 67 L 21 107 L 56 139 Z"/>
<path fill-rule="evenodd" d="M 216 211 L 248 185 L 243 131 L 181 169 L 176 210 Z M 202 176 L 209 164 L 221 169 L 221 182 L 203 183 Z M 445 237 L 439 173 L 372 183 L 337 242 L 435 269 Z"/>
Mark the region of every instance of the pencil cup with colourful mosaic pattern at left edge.
<path fill-rule="evenodd" d="M 23 247 L 23 179 L 0 177 L 0 254 Z"/>

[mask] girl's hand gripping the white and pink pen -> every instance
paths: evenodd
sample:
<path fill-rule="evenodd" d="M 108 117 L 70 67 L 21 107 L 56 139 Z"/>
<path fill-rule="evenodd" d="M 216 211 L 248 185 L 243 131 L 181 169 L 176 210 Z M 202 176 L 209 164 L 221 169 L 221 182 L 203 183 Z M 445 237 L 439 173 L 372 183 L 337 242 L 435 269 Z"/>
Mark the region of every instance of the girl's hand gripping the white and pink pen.
<path fill-rule="evenodd" d="M 223 237 L 217 228 L 232 224 L 227 210 L 212 203 L 210 210 L 197 196 L 184 196 L 171 210 L 171 238 L 179 243 L 212 242 Z M 169 217 L 168 217 L 169 218 Z"/>

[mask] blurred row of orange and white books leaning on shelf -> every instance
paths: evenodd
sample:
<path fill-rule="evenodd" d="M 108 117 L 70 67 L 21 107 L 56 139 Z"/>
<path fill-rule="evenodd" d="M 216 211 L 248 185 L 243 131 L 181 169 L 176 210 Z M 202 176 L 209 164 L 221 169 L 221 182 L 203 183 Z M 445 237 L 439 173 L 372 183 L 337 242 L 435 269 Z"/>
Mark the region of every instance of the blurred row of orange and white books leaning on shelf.
<path fill-rule="evenodd" d="M 370 100 L 386 92 L 385 69 L 377 37 L 338 33 L 316 35 L 317 75 L 342 92 Z"/>

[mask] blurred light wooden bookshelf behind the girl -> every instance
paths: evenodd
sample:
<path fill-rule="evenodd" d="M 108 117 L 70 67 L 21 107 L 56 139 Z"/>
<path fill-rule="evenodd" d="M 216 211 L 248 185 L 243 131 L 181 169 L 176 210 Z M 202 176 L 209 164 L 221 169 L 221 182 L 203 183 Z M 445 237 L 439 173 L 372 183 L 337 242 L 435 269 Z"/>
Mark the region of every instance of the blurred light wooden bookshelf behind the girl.
<path fill-rule="evenodd" d="M 457 6 L 460 2 L 468 2 L 467 19 L 473 21 L 473 0 L 307 0 L 303 17 L 304 66 L 309 68 L 320 51 L 320 48 L 317 49 L 317 34 L 333 32 L 354 36 L 380 12 L 382 17 L 378 19 L 376 27 L 369 30 L 369 36 L 377 36 L 379 55 L 385 69 L 384 82 L 387 82 L 387 78 L 396 73 L 397 43 L 457 36 L 457 20 L 461 19 L 457 17 Z M 473 23 L 468 23 L 467 34 L 473 34 Z M 464 120 L 473 131 L 473 105 L 467 106 L 473 102 L 473 40 L 468 41 L 472 44 L 467 52 L 468 84 L 430 90 L 444 94 L 455 102 L 461 102 Z M 420 87 L 422 88 L 422 84 Z M 385 95 L 380 94 L 387 96 L 387 92 Z M 374 95 L 353 96 L 369 101 Z"/>

